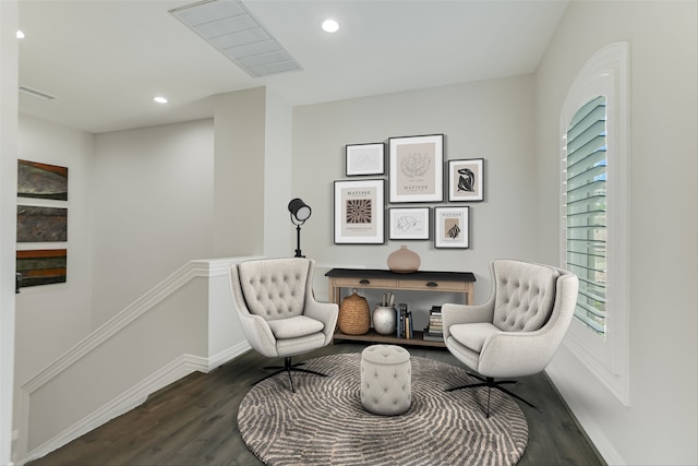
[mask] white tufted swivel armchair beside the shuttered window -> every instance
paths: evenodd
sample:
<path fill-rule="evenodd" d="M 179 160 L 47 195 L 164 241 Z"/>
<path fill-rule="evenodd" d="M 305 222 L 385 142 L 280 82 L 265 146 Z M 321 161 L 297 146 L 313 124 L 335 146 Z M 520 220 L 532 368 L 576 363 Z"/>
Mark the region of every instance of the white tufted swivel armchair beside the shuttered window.
<path fill-rule="evenodd" d="M 501 390 L 527 405 L 530 402 L 504 389 L 495 378 L 519 378 L 543 371 L 569 328 L 579 282 L 563 268 L 497 260 L 490 264 L 492 295 L 481 306 L 444 304 L 444 342 L 448 350 L 481 383 L 447 391 L 486 386 Z M 486 415 L 490 417 L 488 393 Z"/>

